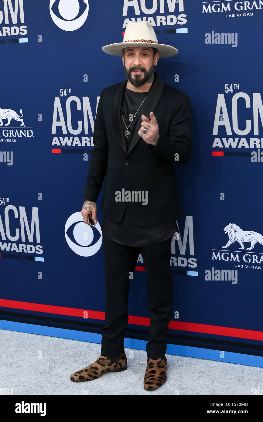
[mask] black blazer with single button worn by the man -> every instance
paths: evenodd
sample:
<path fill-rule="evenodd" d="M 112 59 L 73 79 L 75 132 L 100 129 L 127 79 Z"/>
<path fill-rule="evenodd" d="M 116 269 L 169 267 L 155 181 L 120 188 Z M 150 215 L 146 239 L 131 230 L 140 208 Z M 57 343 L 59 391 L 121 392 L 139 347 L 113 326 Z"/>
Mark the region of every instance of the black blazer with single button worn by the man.
<path fill-rule="evenodd" d="M 108 219 L 120 221 L 126 206 L 128 216 L 139 226 L 176 221 L 181 211 L 173 166 L 186 163 L 192 151 L 190 98 L 164 84 L 155 72 L 127 150 L 120 120 L 126 83 L 127 79 L 107 87 L 100 95 L 83 199 L 96 202 L 106 176 L 100 208 Z M 138 135 L 141 115 L 149 118 L 151 111 L 159 125 L 157 146 L 149 145 Z M 178 161 L 175 161 L 176 153 Z M 143 201 L 117 202 L 117 191 L 144 191 L 148 203 L 146 196 L 144 204 Z"/>

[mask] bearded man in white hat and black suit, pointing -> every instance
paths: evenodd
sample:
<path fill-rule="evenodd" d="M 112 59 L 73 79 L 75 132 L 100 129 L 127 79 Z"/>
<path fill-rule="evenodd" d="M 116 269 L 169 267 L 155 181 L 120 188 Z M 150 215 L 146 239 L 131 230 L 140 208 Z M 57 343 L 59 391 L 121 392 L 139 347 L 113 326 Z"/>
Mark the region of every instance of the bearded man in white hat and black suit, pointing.
<path fill-rule="evenodd" d="M 178 50 L 159 44 L 148 22 L 130 22 L 122 43 L 102 49 L 122 56 L 127 77 L 101 93 L 81 211 L 85 223 L 97 222 L 96 200 L 106 176 L 101 201 L 106 324 L 100 357 L 70 379 L 89 381 L 127 368 L 123 342 L 129 274 L 141 253 L 151 317 L 144 388 L 155 390 L 166 381 L 171 240 L 181 216 L 173 165 L 184 164 L 191 154 L 191 105 L 187 95 L 164 84 L 154 71 L 159 57 Z"/>

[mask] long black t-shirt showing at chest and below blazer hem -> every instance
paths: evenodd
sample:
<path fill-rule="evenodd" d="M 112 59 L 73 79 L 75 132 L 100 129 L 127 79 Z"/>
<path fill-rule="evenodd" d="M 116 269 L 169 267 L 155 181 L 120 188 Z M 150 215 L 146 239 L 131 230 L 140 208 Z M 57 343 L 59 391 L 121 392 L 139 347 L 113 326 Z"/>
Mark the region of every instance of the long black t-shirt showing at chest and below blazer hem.
<path fill-rule="evenodd" d="M 140 106 L 141 102 L 144 100 L 147 94 L 148 92 L 134 92 L 125 87 L 122 97 L 122 108 L 126 116 L 129 116 L 129 114 L 133 114 L 134 116 L 134 114 L 136 114 L 138 107 Z M 141 119 L 140 111 L 142 107 L 143 105 L 139 109 L 138 116 L 133 119 L 133 122 L 131 124 L 129 122 L 129 119 L 123 116 L 126 126 L 129 127 L 130 124 L 130 127 L 128 129 L 130 131 L 130 135 L 128 138 L 125 138 L 127 148 L 129 148 L 130 141 L 136 126 L 136 122 L 138 119 Z M 125 130 L 127 130 L 127 128 L 123 122 L 122 113 L 120 117 L 123 128 L 123 136 L 125 136 L 124 132 Z M 126 210 L 127 208 L 125 208 L 122 219 L 119 222 L 111 221 L 105 216 L 103 216 L 103 222 L 101 225 L 103 235 L 113 240 L 114 242 L 121 243 L 122 245 L 126 246 L 149 246 L 171 238 L 174 233 L 179 233 L 176 221 L 156 226 L 136 226 L 133 224 L 133 222 L 131 222 L 131 220 L 127 216 Z"/>

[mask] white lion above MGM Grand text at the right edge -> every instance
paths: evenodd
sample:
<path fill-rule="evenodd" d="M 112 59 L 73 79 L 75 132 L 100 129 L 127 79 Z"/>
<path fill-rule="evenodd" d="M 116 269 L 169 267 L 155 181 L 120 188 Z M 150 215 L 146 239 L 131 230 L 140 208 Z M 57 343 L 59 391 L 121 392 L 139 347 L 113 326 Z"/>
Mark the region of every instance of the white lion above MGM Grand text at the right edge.
<path fill-rule="evenodd" d="M 224 232 L 228 233 L 228 243 L 222 248 L 228 248 L 232 243 L 238 242 L 241 246 L 239 249 L 245 249 L 244 243 L 250 242 L 250 248 L 247 250 L 254 249 L 255 244 L 258 242 L 260 245 L 263 245 L 263 236 L 257 232 L 245 232 L 236 224 L 229 223 L 228 226 L 225 226 Z"/>

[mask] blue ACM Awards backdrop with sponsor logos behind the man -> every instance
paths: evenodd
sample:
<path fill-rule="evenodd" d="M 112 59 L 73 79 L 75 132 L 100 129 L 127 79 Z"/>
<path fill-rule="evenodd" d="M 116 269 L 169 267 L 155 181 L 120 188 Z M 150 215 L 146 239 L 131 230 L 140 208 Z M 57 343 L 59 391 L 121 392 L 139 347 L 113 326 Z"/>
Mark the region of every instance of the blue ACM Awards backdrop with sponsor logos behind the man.
<path fill-rule="evenodd" d="M 100 343 L 102 234 L 80 211 L 100 93 L 125 79 L 101 47 L 148 20 L 193 108 L 167 352 L 263 367 L 263 1 L 0 3 L 0 327 Z M 126 347 L 145 350 L 146 289 L 139 256 Z"/>

